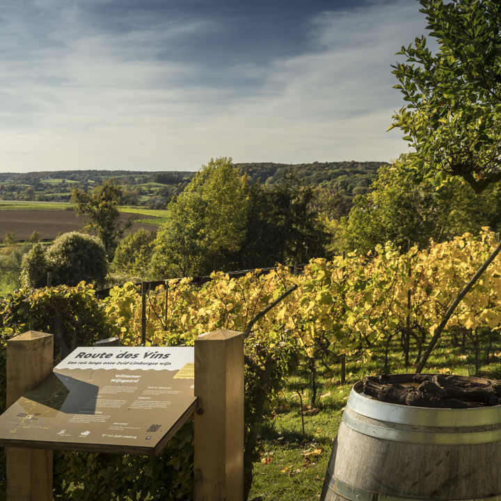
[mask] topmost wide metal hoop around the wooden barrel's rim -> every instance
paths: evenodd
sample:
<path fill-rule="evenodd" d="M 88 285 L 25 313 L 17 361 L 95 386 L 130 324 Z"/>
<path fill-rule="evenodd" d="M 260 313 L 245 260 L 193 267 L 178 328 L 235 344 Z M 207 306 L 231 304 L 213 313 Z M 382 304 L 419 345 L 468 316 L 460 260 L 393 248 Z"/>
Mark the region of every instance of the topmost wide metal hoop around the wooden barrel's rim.
<path fill-rule="evenodd" d="M 410 426 L 471 427 L 501 423 L 501 406 L 478 408 L 425 408 L 388 404 L 360 394 L 359 383 L 353 385 L 347 406 L 358 414 L 375 420 Z"/>

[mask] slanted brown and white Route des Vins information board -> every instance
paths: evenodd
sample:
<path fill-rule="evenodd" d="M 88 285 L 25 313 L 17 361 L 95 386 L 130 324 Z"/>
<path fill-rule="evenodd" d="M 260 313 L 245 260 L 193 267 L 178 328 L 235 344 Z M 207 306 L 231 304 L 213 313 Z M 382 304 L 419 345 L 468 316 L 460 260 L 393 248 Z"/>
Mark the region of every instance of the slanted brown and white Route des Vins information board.
<path fill-rule="evenodd" d="M 191 347 L 77 348 L 0 416 L 0 445 L 158 454 L 196 408 Z"/>

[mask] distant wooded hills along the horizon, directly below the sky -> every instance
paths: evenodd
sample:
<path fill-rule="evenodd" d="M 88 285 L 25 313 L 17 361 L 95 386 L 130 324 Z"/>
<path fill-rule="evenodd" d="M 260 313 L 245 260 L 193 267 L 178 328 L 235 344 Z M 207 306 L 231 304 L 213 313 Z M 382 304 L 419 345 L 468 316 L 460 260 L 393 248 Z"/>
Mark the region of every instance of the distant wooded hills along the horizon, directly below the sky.
<path fill-rule="evenodd" d="M 370 191 L 377 170 L 385 162 L 313 162 L 312 164 L 235 164 L 246 173 L 250 184 L 273 185 L 284 175 L 292 175 L 305 185 L 331 189 L 351 199 Z M 0 200 L 70 200 L 72 188 L 86 189 L 115 178 L 122 184 L 126 205 L 155 209 L 166 207 L 195 175 L 189 171 L 57 170 L 32 173 L 0 173 Z"/>

